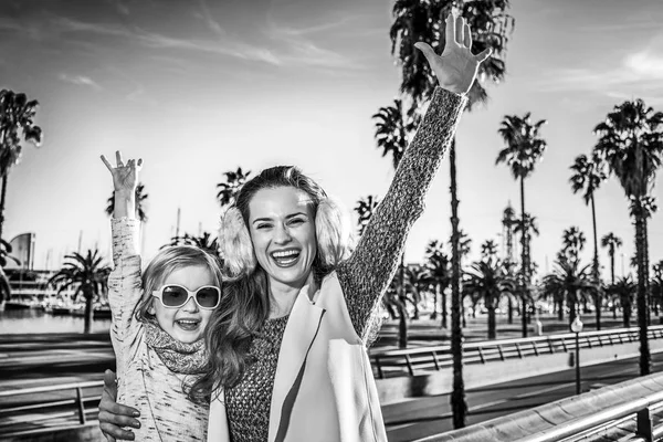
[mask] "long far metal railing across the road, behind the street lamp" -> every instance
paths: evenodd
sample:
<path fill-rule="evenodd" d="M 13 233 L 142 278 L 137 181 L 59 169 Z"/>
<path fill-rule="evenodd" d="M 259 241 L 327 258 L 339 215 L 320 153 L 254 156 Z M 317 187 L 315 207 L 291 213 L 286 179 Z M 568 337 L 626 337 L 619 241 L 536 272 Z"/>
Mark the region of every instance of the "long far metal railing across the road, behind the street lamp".
<path fill-rule="evenodd" d="M 663 338 L 663 326 L 650 326 L 650 339 Z M 638 327 L 618 328 L 579 334 L 580 348 L 594 348 L 638 341 Z M 530 338 L 484 340 L 463 345 L 464 364 L 525 358 L 528 356 L 568 352 L 576 348 L 576 334 L 565 333 Z M 393 376 L 414 376 L 418 370 L 441 370 L 450 367 L 451 346 L 407 348 L 402 350 L 371 350 L 375 375 L 379 379 Z"/>

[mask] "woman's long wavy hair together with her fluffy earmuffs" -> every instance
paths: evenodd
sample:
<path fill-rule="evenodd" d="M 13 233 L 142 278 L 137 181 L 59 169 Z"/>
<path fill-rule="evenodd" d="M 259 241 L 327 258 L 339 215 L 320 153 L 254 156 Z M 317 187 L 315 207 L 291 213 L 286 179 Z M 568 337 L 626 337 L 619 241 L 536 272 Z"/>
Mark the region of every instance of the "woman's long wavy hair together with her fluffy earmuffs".
<path fill-rule="evenodd" d="M 225 290 L 207 329 L 210 352 L 206 373 L 192 386 L 191 397 L 203 398 L 219 388 L 234 387 L 251 364 L 251 339 L 270 314 L 270 290 L 265 271 L 257 265 L 248 229 L 249 204 L 262 189 L 292 187 L 311 197 L 315 217 L 317 254 L 312 271 L 317 283 L 349 255 L 352 228 L 348 212 L 327 198 L 325 191 L 296 167 L 277 166 L 249 180 L 225 212 L 219 232 Z"/>

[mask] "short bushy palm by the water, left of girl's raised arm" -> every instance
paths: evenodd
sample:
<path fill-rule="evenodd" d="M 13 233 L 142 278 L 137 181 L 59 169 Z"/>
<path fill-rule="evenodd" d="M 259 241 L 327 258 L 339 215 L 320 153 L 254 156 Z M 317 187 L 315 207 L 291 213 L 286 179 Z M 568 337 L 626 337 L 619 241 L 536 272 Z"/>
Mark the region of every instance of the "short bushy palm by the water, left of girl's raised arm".
<path fill-rule="evenodd" d="M 72 253 L 64 259 L 70 261 L 64 263 L 64 266 L 49 280 L 49 283 L 59 284 L 59 293 L 70 286 L 76 286 L 74 298 L 83 294 L 85 299 L 84 333 L 87 334 L 92 329 L 93 302 L 104 292 L 109 269 L 103 264 L 103 257 L 99 256 L 98 250 L 94 252 L 88 250 L 85 256 Z"/>

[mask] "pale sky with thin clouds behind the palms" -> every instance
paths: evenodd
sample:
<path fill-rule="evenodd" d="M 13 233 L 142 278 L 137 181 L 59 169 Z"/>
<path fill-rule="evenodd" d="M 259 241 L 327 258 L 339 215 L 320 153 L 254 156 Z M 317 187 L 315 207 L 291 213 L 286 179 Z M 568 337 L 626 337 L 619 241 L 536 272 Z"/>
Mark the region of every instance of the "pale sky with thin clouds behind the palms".
<path fill-rule="evenodd" d="M 663 110 L 660 0 L 512 0 L 515 30 L 507 75 L 457 129 L 461 228 L 480 244 L 502 239 L 519 187 L 497 134 L 505 115 L 546 119 L 548 147 L 525 182 L 526 210 L 540 235 L 532 254 L 551 270 L 571 225 L 588 238 L 591 211 L 569 185 L 569 166 L 597 143 L 613 106 L 643 98 Z M 175 234 L 217 232 L 223 172 L 296 165 L 351 209 L 383 196 L 393 177 L 377 149 L 371 116 L 398 96 L 387 0 L 3 0 L 0 87 L 40 102 L 41 147 L 27 146 L 9 176 L 3 235 L 36 235 L 36 269 L 59 266 L 78 248 L 110 261 L 105 214 L 113 185 L 99 160 L 115 150 L 143 158 L 149 194 L 144 255 Z M 654 196 L 663 186 L 659 173 Z M 660 203 L 662 203 L 660 201 Z M 596 194 L 598 234 L 624 243 L 615 272 L 629 272 L 634 228 L 614 178 Z M 407 262 L 450 232 L 449 162 L 411 231 Z M 650 261 L 663 259 L 661 214 L 650 222 Z M 601 265 L 609 274 L 606 250 Z"/>

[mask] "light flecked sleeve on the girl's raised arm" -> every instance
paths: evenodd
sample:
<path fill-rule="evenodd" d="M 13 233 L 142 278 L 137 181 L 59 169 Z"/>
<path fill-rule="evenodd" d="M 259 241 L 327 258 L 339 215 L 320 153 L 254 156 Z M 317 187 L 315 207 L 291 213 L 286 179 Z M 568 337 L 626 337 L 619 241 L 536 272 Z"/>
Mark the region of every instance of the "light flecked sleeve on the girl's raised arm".
<path fill-rule="evenodd" d="M 134 318 L 134 308 L 143 296 L 138 254 L 140 222 L 128 218 L 114 219 L 112 230 L 115 269 L 108 276 L 108 303 L 113 314 L 110 336 L 124 341 L 129 335 L 135 336 L 133 332 L 139 326 Z"/>

